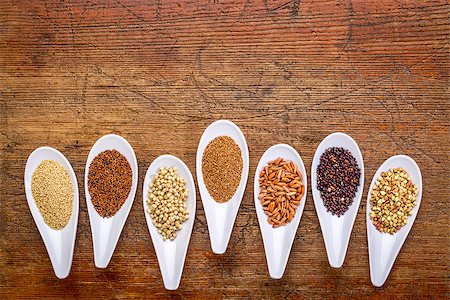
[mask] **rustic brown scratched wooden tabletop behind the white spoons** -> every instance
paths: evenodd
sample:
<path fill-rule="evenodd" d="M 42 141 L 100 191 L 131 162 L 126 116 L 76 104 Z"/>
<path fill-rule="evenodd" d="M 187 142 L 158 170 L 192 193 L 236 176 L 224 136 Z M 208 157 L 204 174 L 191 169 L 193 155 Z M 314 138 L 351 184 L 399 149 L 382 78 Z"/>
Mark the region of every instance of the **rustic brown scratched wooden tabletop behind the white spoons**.
<path fill-rule="evenodd" d="M 449 4 L 387 0 L 0 1 L 0 298 L 449 296 Z M 164 290 L 142 189 L 107 269 L 96 269 L 84 198 L 90 147 L 124 136 L 143 174 L 171 153 L 195 174 L 206 126 L 244 132 L 250 178 L 228 250 L 211 253 L 200 197 L 184 274 Z M 253 205 L 262 153 L 288 143 L 310 170 L 329 133 L 359 143 L 366 195 L 380 164 L 415 159 L 424 193 L 382 288 L 372 286 L 365 197 L 341 269 L 327 261 L 311 193 L 283 279 L 269 278 Z M 72 271 L 58 280 L 23 187 L 28 155 L 72 163 L 80 215 Z M 308 175 L 309 176 L 309 175 Z"/>

